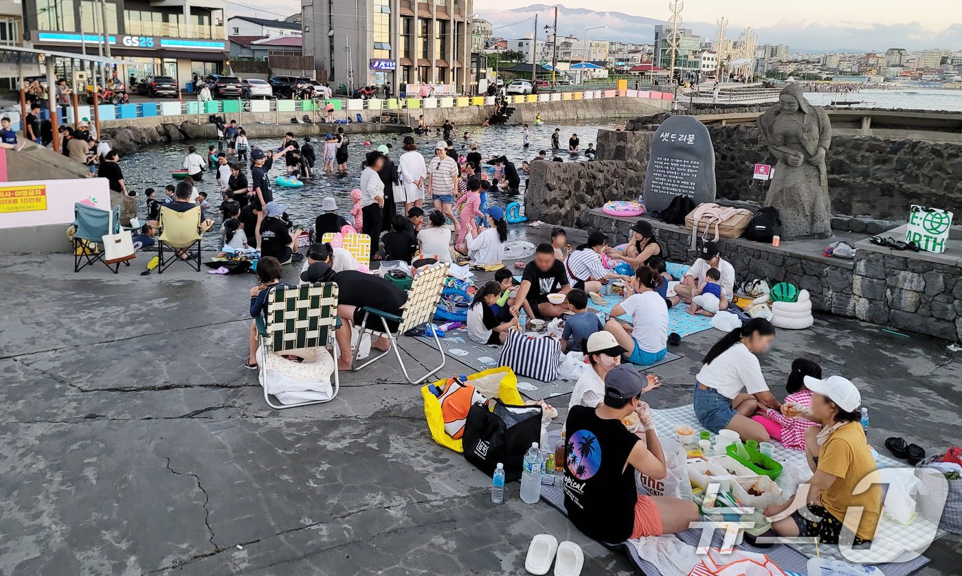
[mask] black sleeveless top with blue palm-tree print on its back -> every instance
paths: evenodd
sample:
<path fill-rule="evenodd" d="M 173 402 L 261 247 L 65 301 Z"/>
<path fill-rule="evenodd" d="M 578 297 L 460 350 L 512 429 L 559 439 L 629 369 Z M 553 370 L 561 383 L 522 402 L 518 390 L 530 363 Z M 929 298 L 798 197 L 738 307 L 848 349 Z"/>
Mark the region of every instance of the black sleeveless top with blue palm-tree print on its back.
<path fill-rule="evenodd" d="M 635 468 L 628 455 L 639 440 L 620 420 L 572 406 L 565 424 L 565 508 L 586 536 L 605 542 L 631 537 L 635 525 Z"/>

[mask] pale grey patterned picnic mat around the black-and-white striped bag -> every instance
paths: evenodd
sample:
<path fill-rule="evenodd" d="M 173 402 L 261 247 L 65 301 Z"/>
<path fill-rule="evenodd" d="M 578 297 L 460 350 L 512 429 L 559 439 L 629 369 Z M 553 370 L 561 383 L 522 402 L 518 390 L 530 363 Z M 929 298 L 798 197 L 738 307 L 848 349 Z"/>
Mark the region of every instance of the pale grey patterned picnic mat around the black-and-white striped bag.
<path fill-rule="evenodd" d="M 432 348 L 435 347 L 434 337 L 422 336 L 419 338 Z M 441 338 L 441 347 L 445 356 L 467 364 L 478 372 L 497 366 L 498 358 L 501 356 L 500 345 L 478 344 L 468 338 L 468 331 L 463 328 L 446 333 L 444 338 Z M 681 357 L 677 354 L 669 352 L 661 361 L 639 367 L 647 370 L 679 358 Z M 519 375 L 518 391 L 532 400 L 542 400 L 570 394 L 574 391 L 575 383 L 577 383 L 577 379 L 559 377 L 552 382 L 542 382 Z"/>

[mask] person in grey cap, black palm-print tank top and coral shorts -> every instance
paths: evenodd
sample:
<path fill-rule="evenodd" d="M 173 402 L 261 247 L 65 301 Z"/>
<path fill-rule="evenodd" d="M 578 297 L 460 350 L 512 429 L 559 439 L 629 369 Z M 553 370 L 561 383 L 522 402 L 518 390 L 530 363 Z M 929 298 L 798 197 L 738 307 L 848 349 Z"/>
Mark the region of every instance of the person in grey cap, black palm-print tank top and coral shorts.
<path fill-rule="evenodd" d="M 586 536 L 618 543 L 687 530 L 698 520 L 694 502 L 670 496 L 639 495 L 635 470 L 654 480 L 668 475 L 651 413 L 642 402 L 645 379 L 621 364 L 604 379 L 597 408 L 574 406 L 565 424 L 565 509 Z M 639 414 L 645 441 L 628 431 L 622 418 Z"/>

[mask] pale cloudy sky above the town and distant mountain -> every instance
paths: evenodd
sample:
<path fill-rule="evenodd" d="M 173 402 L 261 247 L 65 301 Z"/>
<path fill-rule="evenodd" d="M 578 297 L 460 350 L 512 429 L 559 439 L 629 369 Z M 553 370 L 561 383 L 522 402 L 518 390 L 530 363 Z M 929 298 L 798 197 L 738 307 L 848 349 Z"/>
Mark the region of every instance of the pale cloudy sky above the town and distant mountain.
<path fill-rule="evenodd" d="M 564 6 L 567 10 L 558 24 L 562 34 L 583 36 L 586 27 L 608 25 L 590 36 L 625 41 L 650 42 L 654 23 L 670 15 L 668 0 L 565 0 Z M 299 9 L 297 0 L 275 0 L 260 7 L 255 0 L 228 3 L 229 13 L 266 18 Z M 515 37 L 530 32 L 531 23 L 512 24 L 535 13 L 544 22 L 551 9 L 546 3 L 475 0 L 474 12 L 500 27 L 495 35 Z M 760 43 L 787 43 L 793 51 L 962 50 L 962 0 L 687 0 L 682 13 L 685 25 L 706 38 L 715 37 L 715 22 L 721 16 L 728 18 L 729 30 L 736 35 L 751 26 Z"/>

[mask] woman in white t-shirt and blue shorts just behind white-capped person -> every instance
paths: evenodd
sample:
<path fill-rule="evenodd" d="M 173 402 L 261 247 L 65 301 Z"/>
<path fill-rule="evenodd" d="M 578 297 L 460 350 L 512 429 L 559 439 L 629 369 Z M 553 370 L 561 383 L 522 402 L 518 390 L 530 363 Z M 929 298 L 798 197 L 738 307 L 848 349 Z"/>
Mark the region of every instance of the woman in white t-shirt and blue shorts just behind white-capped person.
<path fill-rule="evenodd" d="M 605 330 L 614 334 L 628 351 L 625 360 L 630 363 L 646 366 L 660 362 L 668 354 L 668 305 L 655 290 L 661 281 L 651 268 L 638 268 L 630 285 L 634 293 L 615 305 L 611 311 L 613 319 L 605 324 Z M 614 319 L 624 313 L 631 315 L 631 334 Z"/>

